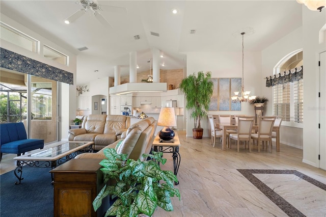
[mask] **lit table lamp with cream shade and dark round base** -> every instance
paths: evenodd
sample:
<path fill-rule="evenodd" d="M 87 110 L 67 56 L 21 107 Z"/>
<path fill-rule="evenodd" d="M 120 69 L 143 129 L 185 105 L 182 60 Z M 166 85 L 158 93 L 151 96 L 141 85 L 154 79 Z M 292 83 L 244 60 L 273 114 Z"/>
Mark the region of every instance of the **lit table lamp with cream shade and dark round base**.
<path fill-rule="evenodd" d="M 177 122 L 175 120 L 175 113 L 174 113 L 174 107 L 162 107 L 161 111 L 159 112 L 158 126 L 164 126 L 163 129 L 161 129 L 158 132 L 158 137 L 161 140 L 169 141 L 174 138 L 174 131 L 170 128 L 171 126 L 176 126 Z"/>

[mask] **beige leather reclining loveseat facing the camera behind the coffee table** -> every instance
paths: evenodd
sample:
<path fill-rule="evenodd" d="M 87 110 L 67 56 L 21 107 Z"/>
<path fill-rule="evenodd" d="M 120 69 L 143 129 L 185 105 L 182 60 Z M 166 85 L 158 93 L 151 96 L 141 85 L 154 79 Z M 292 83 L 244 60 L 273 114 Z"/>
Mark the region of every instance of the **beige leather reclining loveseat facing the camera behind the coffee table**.
<path fill-rule="evenodd" d="M 89 115 L 82 128 L 68 131 L 68 140 L 94 142 L 93 149 L 101 150 L 119 140 L 129 126 L 130 117 L 124 115 Z"/>

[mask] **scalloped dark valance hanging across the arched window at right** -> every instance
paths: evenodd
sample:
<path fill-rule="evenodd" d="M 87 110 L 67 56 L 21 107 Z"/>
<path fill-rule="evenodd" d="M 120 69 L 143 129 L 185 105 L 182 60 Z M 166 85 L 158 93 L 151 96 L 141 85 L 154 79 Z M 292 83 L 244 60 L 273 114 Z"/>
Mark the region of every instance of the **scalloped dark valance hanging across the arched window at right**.
<path fill-rule="evenodd" d="M 295 82 L 297 80 L 303 79 L 303 66 L 290 69 L 279 74 L 266 77 L 266 87 L 273 87 L 275 85 L 283 85 L 290 82 Z"/>

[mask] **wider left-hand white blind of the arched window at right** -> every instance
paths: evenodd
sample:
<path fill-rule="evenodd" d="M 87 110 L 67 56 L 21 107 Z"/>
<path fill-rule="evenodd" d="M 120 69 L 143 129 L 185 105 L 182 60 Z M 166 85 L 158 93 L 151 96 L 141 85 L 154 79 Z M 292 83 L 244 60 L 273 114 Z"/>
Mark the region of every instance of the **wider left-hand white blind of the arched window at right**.
<path fill-rule="evenodd" d="M 282 116 L 282 121 L 291 120 L 290 104 L 290 83 L 284 85 L 276 85 L 273 87 L 273 114 Z"/>

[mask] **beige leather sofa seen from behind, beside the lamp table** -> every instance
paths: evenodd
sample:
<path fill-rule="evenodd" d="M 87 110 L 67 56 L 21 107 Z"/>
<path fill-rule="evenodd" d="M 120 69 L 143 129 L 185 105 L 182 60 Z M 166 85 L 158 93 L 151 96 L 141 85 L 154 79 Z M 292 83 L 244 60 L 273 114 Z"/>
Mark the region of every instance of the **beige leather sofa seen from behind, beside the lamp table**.
<path fill-rule="evenodd" d="M 146 118 L 137 123 L 132 124 L 127 131 L 123 132 L 121 139 L 115 143 L 102 148 L 97 153 L 83 153 L 77 155 L 75 158 L 100 158 L 104 159 L 103 153 L 105 148 L 116 148 L 117 153 L 127 154 L 130 159 L 141 159 L 143 153 L 149 153 L 152 148 L 154 139 L 154 132 L 156 130 L 157 121 L 153 117 Z M 122 140 L 122 143 L 117 144 Z"/>

